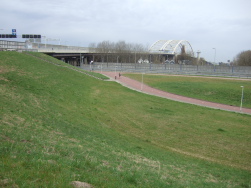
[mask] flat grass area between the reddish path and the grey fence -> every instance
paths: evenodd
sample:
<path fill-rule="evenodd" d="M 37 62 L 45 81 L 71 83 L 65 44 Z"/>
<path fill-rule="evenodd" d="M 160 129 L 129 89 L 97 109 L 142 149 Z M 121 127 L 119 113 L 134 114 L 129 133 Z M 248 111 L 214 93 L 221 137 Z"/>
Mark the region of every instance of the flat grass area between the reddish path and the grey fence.
<path fill-rule="evenodd" d="M 124 76 L 142 81 L 141 74 Z M 241 86 L 244 86 L 243 107 L 251 108 L 251 79 L 144 74 L 143 81 L 151 87 L 170 93 L 233 106 L 240 106 Z"/>

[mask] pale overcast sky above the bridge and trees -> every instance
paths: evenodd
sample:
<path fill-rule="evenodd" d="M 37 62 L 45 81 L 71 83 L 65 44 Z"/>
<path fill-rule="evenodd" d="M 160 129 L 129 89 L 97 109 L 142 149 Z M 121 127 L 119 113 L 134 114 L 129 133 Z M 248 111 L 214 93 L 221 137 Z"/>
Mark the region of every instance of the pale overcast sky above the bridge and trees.
<path fill-rule="evenodd" d="M 150 47 L 186 40 L 209 62 L 251 50 L 251 0 L 1 0 L 0 34 L 41 34 L 62 45 Z M 20 39 L 23 40 L 23 39 Z M 54 42 L 55 43 L 55 42 Z"/>

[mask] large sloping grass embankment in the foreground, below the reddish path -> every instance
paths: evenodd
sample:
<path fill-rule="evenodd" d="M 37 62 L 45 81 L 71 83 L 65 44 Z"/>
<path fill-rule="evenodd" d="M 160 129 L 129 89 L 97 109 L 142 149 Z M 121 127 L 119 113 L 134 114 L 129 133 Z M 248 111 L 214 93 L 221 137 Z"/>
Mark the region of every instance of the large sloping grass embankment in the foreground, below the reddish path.
<path fill-rule="evenodd" d="M 149 96 L 22 53 L 0 52 L 0 70 L 0 187 L 251 185 L 249 115 Z"/>

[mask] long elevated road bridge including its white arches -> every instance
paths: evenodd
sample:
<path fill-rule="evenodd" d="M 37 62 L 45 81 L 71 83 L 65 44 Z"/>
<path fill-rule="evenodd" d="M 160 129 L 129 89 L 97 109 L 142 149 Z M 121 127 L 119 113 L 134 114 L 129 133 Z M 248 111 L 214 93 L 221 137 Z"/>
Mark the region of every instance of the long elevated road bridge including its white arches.
<path fill-rule="evenodd" d="M 17 42 L 0 40 L 0 50 L 36 51 L 48 54 L 74 66 L 95 62 L 120 63 L 163 63 L 173 60 L 182 50 L 193 56 L 193 49 L 186 40 L 158 40 L 148 51 L 116 52 L 112 50 L 100 53 L 97 48 L 44 44 L 41 42 Z M 102 50 L 101 50 L 102 51 Z"/>

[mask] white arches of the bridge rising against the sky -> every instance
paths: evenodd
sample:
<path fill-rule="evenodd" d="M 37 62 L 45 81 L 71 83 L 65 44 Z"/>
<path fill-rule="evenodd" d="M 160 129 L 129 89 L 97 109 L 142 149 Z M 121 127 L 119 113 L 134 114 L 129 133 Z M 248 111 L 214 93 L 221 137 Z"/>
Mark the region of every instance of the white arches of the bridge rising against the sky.
<path fill-rule="evenodd" d="M 158 40 L 149 48 L 151 53 L 180 54 L 182 46 L 186 53 L 194 55 L 191 44 L 186 40 Z"/>

